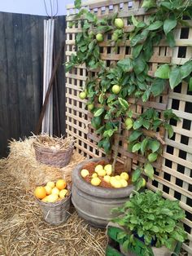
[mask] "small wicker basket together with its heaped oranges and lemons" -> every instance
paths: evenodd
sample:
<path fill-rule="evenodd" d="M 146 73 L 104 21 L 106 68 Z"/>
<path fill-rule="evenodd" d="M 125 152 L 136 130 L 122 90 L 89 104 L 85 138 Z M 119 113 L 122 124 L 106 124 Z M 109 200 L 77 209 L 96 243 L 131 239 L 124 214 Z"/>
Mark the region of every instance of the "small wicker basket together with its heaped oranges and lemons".
<path fill-rule="evenodd" d="M 49 181 L 34 191 L 46 223 L 59 225 L 68 219 L 70 188 L 64 179 Z"/>

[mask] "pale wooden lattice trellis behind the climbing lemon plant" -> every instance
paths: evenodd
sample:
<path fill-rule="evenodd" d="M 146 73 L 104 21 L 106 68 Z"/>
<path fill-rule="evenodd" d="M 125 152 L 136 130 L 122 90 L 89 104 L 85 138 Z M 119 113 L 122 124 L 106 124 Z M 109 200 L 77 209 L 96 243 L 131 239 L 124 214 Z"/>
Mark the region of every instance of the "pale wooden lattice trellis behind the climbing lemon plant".
<path fill-rule="evenodd" d="M 119 17 L 124 19 L 125 31 L 131 31 L 133 27 L 129 25 L 128 17 L 136 15 L 137 20 L 146 21 L 149 14 L 146 15 L 144 9 L 140 8 L 140 1 L 94 1 L 85 3 L 83 6 L 88 7 L 90 11 L 97 13 L 98 16 L 109 15 L 118 12 Z M 75 14 L 76 9 L 73 5 L 68 6 L 68 15 Z M 76 33 L 81 32 L 81 20 L 70 29 L 69 21 L 72 16 L 67 17 L 67 40 L 66 40 L 66 56 L 67 61 L 70 55 L 76 51 L 75 38 Z M 190 22 L 190 24 L 192 24 Z M 124 59 L 131 55 L 129 41 L 124 45 L 120 45 L 116 51 L 114 46 L 107 39 L 110 34 L 105 35 L 104 42 L 100 43 L 101 59 L 106 62 L 107 66 L 116 64 L 118 60 Z M 170 49 L 164 40 L 159 46 L 154 47 L 154 54 L 150 60 L 151 75 L 154 74 L 159 64 L 172 63 L 183 64 L 192 57 L 192 29 L 177 28 L 175 31 L 176 47 Z M 92 74 L 94 75 L 94 73 Z M 70 73 L 66 74 L 66 108 L 67 108 L 67 134 L 76 138 L 76 150 L 85 155 L 85 157 L 103 157 L 104 152 L 98 149 L 98 137 L 94 133 L 94 129 L 90 126 L 91 114 L 85 109 L 86 101 L 78 97 L 82 87 L 88 76 L 85 65 L 73 68 Z M 174 129 L 174 136 L 168 139 L 166 135 L 167 146 L 164 147 L 163 162 L 160 160 L 154 164 L 155 180 L 147 182 L 148 188 L 152 190 L 160 189 L 164 192 L 164 196 L 181 201 L 181 207 L 185 210 L 186 218 L 184 220 L 186 231 L 188 232 L 189 243 L 183 245 L 183 248 L 192 254 L 192 222 L 191 222 L 191 169 L 192 169 L 192 143 L 191 143 L 191 121 L 192 121 L 192 96 L 190 95 L 187 85 L 182 83 L 174 91 L 166 89 L 161 97 L 151 97 L 150 102 L 142 103 L 142 100 L 134 104 L 134 99 L 129 99 L 133 104 L 134 117 L 142 113 L 147 108 L 155 108 L 161 113 L 166 108 L 172 108 L 181 121 L 171 123 Z M 161 130 L 164 136 L 164 130 Z M 144 159 L 141 156 L 127 151 L 128 130 L 123 130 L 120 136 L 120 147 L 118 160 L 123 162 L 126 167 L 135 169 L 139 162 Z"/>

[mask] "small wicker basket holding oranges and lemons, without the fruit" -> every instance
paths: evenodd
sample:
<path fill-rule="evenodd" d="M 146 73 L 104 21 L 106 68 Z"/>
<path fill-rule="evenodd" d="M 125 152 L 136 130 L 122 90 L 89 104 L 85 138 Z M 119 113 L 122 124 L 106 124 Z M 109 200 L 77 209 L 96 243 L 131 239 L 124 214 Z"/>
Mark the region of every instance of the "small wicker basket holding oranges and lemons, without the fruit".
<path fill-rule="evenodd" d="M 70 192 L 69 188 L 68 191 Z M 50 223 L 51 225 L 55 226 L 64 223 L 68 220 L 68 210 L 70 208 L 70 201 L 71 192 L 68 195 L 68 197 L 63 198 L 63 200 L 57 201 L 55 203 L 46 203 L 41 200 L 37 200 L 46 223 Z"/>

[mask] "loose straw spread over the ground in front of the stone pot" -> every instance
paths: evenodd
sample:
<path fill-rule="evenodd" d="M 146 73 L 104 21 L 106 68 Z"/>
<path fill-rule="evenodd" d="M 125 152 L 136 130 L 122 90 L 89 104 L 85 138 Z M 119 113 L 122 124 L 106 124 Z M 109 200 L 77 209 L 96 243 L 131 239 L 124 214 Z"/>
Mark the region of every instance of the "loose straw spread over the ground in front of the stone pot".
<path fill-rule="evenodd" d="M 33 193 L 24 191 L 10 170 L 5 170 L 5 161 L 0 161 L 0 180 L 0 255 L 105 255 L 105 232 L 89 227 L 74 209 L 70 210 L 68 222 L 59 227 L 45 223 Z"/>

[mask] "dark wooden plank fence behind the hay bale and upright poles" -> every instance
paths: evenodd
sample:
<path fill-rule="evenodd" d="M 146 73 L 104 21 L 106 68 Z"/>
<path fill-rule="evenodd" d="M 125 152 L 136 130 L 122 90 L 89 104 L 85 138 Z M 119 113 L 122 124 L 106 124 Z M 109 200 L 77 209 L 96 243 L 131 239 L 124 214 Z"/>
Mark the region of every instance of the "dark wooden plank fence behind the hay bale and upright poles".
<path fill-rule="evenodd" d="M 46 17 L 0 12 L 0 157 L 7 140 L 31 135 L 42 104 L 43 20 Z M 65 16 L 55 20 L 55 51 L 65 37 Z M 63 56 L 62 56 L 63 62 Z M 65 132 L 64 70 L 59 66 L 59 116 Z M 54 107 L 54 130 L 57 121 Z"/>

